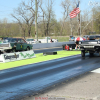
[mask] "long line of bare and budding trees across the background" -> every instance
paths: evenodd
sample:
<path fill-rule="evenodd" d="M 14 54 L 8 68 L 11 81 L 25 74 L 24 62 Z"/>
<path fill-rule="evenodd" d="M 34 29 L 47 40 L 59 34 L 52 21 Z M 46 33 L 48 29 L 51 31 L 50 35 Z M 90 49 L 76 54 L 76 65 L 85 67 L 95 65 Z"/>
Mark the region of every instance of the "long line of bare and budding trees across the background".
<path fill-rule="evenodd" d="M 69 18 L 69 13 L 77 3 L 78 0 L 62 0 L 63 17 L 57 20 L 54 11 L 55 1 L 37 0 L 38 35 L 40 37 L 80 35 L 79 17 Z M 22 1 L 11 16 L 16 20 L 15 22 L 8 23 L 6 18 L 0 21 L 0 36 L 21 36 L 24 38 L 35 36 L 35 0 Z M 81 35 L 88 35 L 89 32 L 100 34 L 100 7 L 94 7 L 91 11 L 84 9 L 80 12 L 80 19 Z"/>

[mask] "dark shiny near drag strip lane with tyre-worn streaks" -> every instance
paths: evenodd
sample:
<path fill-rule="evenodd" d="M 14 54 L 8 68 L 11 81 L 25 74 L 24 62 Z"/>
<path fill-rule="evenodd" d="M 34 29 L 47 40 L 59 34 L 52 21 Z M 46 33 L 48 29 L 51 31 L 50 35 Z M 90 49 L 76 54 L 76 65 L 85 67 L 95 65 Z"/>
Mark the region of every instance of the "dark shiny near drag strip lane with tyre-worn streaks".
<path fill-rule="evenodd" d="M 100 67 L 98 54 L 64 57 L 0 71 L 0 100 L 21 100 Z"/>

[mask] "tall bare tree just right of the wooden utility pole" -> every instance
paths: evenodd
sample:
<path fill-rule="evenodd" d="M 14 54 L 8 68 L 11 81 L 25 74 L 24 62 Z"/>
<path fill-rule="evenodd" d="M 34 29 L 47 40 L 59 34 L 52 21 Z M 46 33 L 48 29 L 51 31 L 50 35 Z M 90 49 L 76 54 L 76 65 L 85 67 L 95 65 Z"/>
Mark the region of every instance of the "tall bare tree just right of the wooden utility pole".
<path fill-rule="evenodd" d="M 53 12 L 54 1 L 48 0 L 45 3 L 46 6 L 45 8 L 43 8 L 43 1 L 41 0 L 39 8 L 43 18 L 42 21 L 44 26 L 44 33 L 46 36 L 48 36 L 52 26 L 54 25 L 54 23 L 53 24 L 51 23 L 52 19 L 54 19 L 54 12 Z"/>

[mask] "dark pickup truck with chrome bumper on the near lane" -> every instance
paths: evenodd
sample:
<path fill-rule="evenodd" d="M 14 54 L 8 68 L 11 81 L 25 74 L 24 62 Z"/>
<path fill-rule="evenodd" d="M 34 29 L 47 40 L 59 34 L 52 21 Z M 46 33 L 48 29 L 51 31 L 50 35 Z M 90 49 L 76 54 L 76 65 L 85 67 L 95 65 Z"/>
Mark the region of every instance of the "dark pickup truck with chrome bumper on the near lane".
<path fill-rule="evenodd" d="M 85 57 L 85 53 L 89 53 L 92 56 L 94 53 L 100 55 L 100 36 L 89 36 L 89 40 L 79 42 L 81 55 Z"/>

